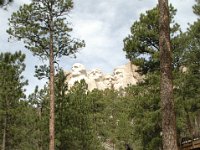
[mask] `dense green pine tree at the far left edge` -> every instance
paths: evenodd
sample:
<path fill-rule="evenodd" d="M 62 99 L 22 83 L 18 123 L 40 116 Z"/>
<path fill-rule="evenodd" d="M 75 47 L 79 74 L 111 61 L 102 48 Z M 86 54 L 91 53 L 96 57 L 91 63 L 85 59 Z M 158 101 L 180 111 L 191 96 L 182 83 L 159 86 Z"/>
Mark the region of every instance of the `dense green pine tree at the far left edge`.
<path fill-rule="evenodd" d="M 0 118 L 2 150 L 15 149 L 20 130 L 20 101 L 25 97 L 23 87 L 27 84 L 22 72 L 25 69 L 23 63 L 25 55 L 21 52 L 0 54 Z"/>

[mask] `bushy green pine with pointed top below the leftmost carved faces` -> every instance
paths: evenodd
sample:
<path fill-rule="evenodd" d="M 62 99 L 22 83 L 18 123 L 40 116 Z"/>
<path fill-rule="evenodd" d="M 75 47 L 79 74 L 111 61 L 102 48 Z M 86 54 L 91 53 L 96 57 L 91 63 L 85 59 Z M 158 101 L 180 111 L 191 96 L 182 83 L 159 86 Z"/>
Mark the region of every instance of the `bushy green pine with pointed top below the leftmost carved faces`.
<path fill-rule="evenodd" d="M 64 133 L 60 133 L 64 143 L 61 144 L 70 150 L 100 149 L 98 135 L 92 125 L 92 104 L 87 98 L 87 84 L 84 80 L 76 82 L 68 92 L 63 113 Z"/>

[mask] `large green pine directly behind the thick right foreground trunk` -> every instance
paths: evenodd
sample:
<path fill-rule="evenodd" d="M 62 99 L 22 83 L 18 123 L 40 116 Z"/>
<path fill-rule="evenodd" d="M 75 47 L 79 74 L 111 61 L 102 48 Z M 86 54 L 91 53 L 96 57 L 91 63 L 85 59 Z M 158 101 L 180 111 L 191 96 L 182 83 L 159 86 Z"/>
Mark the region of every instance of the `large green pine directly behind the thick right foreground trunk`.
<path fill-rule="evenodd" d="M 182 42 L 180 40 L 180 28 L 174 21 L 176 10 L 170 5 L 170 37 L 172 42 L 173 69 L 180 66 L 180 53 Z M 126 56 L 134 64 L 139 66 L 139 71 L 145 75 L 143 83 L 137 88 L 129 89 L 128 93 L 136 92 L 136 98 L 133 106 L 133 118 L 136 124 L 134 126 L 136 135 L 140 140 L 138 143 L 143 145 L 144 149 L 159 149 L 161 144 L 161 120 L 160 120 L 160 48 L 159 48 L 159 13 L 158 7 L 141 14 L 139 21 L 136 21 L 131 27 L 131 34 L 124 39 L 124 49 Z M 135 91 L 136 90 L 136 91 Z M 136 108 L 135 108 L 136 107 Z M 137 109 L 140 108 L 140 109 Z M 144 112 L 145 115 L 141 115 Z M 135 116 L 134 116 L 135 115 Z M 134 122 L 134 121 L 133 121 Z"/>

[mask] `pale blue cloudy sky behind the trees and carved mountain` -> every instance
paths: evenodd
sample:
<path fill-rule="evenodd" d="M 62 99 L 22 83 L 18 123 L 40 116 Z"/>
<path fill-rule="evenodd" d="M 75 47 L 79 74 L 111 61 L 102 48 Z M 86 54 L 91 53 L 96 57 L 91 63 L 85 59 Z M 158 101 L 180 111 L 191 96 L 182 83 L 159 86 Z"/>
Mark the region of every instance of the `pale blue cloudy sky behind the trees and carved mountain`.
<path fill-rule="evenodd" d="M 42 87 L 46 81 L 34 77 L 35 65 L 42 60 L 33 57 L 32 53 L 18 41 L 8 42 L 8 18 L 19 6 L 29 0 L 15 0 L 7 7 L 0 9 L 0 52 L 22 50 L 26 54 L 24 77 L 29 80 L 27 94 L 33 92 L 36 85 Z M 188 23 L 197 18 L 192 12 L 194 0 L 169 0 L 177 9 L 175 20 L 186 31 Z M 99 68 L 104 73 L 112 73 L 117 66 L 128 63 L 123 52 L 123 39 L 130 34 L 131 25 L 139 19 L 141 13 L 155 7 L 157 0 L 74 0 L 74 9 L 69 14 L 72 23 L 73 37 L 84 40 L 86 47 L 77 53 L 77 58 L 63 57 L 60 66 L 70 70 L 74 63 L 82 63 L 90 70 Z"/>

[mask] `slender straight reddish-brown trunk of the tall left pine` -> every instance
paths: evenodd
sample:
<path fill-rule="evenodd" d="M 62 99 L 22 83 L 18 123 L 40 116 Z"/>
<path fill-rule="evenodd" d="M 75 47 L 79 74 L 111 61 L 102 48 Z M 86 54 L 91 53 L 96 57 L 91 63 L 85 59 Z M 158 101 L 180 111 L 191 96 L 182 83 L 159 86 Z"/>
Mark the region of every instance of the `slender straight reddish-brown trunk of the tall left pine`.
<path fill-rule="evenodd" d="M 49 120 L 49 133 L 50 143 L 49 150 L 55 148 L 55 94 L 54 94 L 54 53 L 53 53 L 53 20 L 51 21 L 50 29 L 50 120 Z"/>

